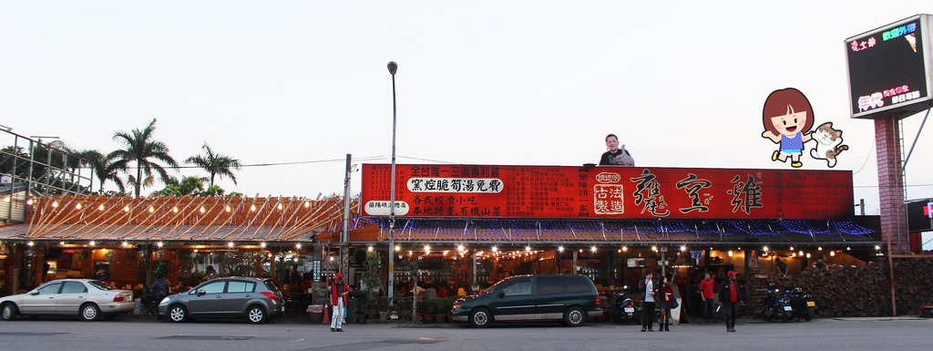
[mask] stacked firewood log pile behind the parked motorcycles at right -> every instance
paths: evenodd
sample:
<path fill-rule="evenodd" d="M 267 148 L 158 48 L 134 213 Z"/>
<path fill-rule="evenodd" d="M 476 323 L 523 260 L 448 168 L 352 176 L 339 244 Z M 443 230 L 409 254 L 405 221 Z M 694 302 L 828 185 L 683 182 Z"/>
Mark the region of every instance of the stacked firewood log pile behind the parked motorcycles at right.
<path fill-rule="evenodd" d="M 918 306 L 933 305 L 933 260 L 895 259 L 894 267 L 898 316 L 914 315 Z M 794 276 L 752 269 L 749 275 L 746 284 L 752 316 L 759 316 L 769 282 L 778 288 L 799 287 L 813 293 L 817 316 L 891 316 L 886 261 L 872 261 L 866 266 L 828 265 L 822 270 L 810 267 Z"/>

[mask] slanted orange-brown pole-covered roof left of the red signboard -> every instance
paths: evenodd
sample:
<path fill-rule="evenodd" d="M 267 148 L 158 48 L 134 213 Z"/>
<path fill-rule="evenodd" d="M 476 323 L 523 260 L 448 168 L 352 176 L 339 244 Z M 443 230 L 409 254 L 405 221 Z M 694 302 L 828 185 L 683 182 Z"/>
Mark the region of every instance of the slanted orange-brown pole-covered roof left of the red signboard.
<path fill-rule="evenodd" d="M 337 196 L 49 196 L 33 199 L 27 223 L 0 227 L 0 239 L 310 241 L 318 232 L 342 231 L 343 205 Z"/>

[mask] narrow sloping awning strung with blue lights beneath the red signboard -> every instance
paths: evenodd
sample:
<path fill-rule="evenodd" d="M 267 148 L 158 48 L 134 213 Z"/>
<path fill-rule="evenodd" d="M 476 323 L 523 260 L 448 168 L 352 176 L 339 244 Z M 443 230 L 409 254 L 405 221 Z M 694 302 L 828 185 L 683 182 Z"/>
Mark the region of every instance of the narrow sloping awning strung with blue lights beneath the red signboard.
<path fill-rule="evenodd" d="M 363 218 L 351 242 L 388 240 L 387 218 Z M 375 231 L 378 230 L 378 234 Z M 836 243 L 877 245 L 874 230 L 848 220 L 626 220 L 397 218 L 395 240 L 606 244 Z"/>

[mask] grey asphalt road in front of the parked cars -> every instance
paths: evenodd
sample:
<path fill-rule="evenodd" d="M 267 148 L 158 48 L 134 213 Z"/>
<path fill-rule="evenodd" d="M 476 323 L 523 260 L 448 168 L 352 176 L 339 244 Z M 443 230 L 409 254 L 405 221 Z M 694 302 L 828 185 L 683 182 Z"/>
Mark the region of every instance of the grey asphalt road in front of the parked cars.
<path fill-rule="evenodd" d="M 325 324 L 280 318 L 199 320 L 175 324 L 150 316 L 112 321 L 67 318 L 0 321 L 0 350 L 933 350 L 933 319 L 834 318 L 767 323 L 740 319 L 737 332 L 719 324 L 684 324 L 671 332 L 641 332 L 638 326 L 591 323 L 504 325 L 477 330 L 463 324 Z"/>

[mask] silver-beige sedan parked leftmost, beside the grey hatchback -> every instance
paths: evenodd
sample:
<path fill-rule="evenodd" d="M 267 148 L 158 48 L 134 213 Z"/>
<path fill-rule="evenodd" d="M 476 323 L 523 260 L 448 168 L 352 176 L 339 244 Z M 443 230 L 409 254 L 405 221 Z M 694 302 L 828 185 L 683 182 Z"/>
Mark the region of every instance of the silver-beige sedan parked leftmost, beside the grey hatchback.
<path fill-rule="evenodd" d="M 131 290 L 110 288 L 99 280 L 58 279 L 25 294 L 0 298 L 0 316 L 80 316 L 84 320 L 110 319 L 132 312 Z"/>

